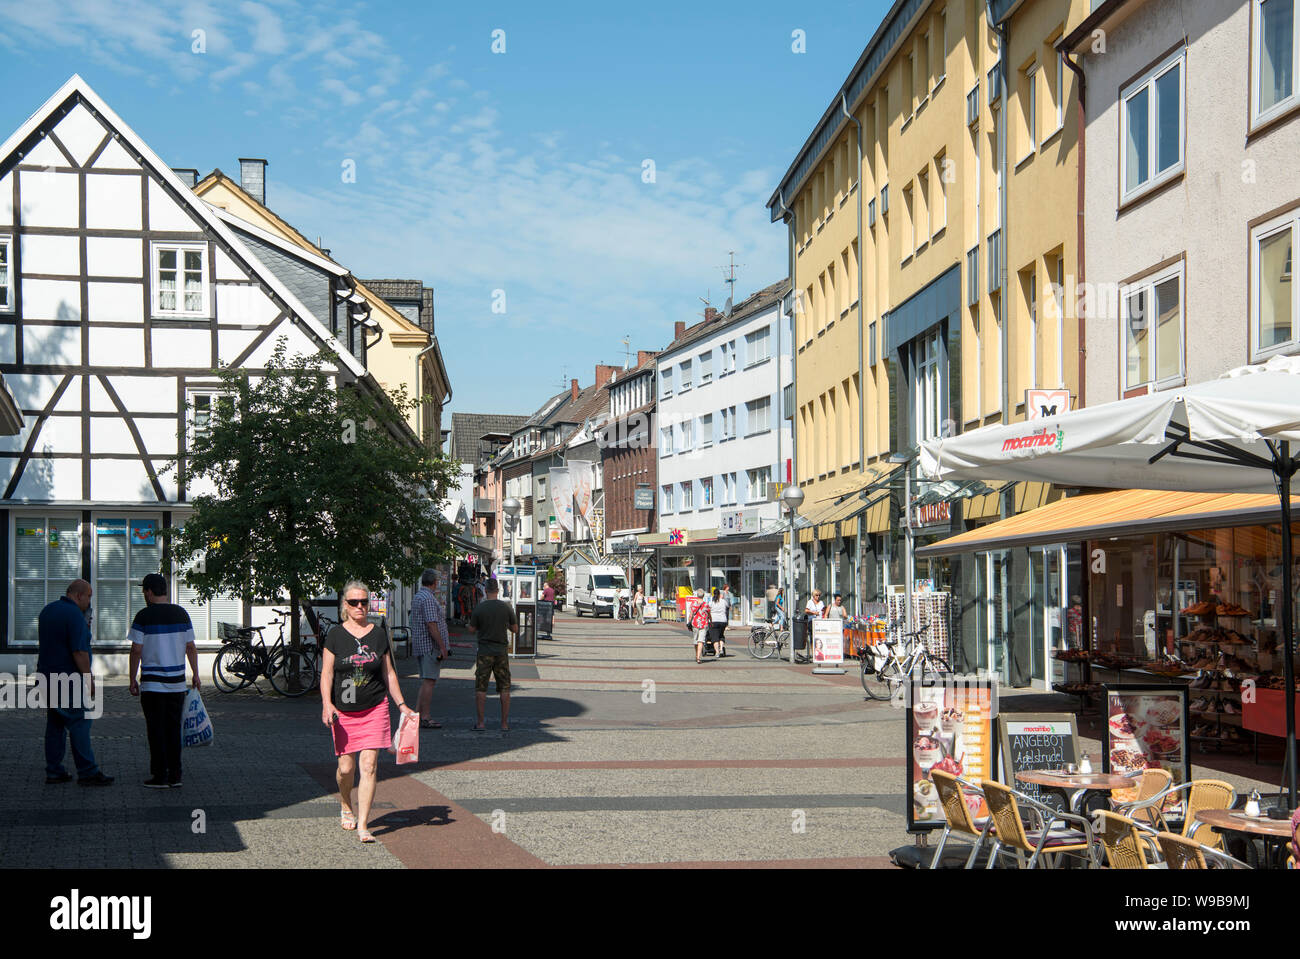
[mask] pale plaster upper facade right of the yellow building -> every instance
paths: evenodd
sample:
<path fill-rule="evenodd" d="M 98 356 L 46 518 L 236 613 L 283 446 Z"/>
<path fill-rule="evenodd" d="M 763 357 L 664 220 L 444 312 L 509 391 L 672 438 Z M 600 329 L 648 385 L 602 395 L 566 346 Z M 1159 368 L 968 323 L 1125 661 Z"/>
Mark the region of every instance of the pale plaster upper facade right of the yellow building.
<path fill-rule="evenodd" d="M 1212 379 L 1264 359 L 1252 344 L 1258 316 L 1252 231 L 1260 221 L 1265 229 L 1282 226 L 1300 211 L 1300 113 L 1283 112 L 1265 129 L 1252 118 L 1252 84 L 1260 82 L 1257 0 L 1110 5 L 1114 14 L 1097 25 L 1104 52 L 1093 49 L 1091 35 L 1076 49 L 1087 75 L 1083 279 L 1095 294 L 1086 313 L 1088 405 L 1135 391 L 1124 382 L 1128 318 L 1119 304 L 1148 278 L 1182 277 L 1183 329 L 1176 353 L 1167 347 L 1170 363 L 1176 356 L 1180 366 L 1148 389 Z M 1165 183 L 1121 203 L 1124 96 L 1178 58 L 1184 71 L 1182 172 L 1171 168 Z M 1290 275 L 1284 283 L 1290 288 Z M 1284 299 L 1295 303 L 1290 292 Z M 1278 351 L 1300 348 L 1294 316 L 1290 333 L 1290 344 Z"/>

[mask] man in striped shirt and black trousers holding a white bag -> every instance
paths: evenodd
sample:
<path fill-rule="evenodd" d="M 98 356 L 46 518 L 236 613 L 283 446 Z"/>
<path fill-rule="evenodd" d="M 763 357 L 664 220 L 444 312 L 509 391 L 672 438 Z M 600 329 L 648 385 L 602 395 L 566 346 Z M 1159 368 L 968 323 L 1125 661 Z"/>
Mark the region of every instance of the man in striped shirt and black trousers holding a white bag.
<path fill-rule="evenodd" d="M 166 580 L 150 573 L 142 583 L 144 608 L 131 622 L 131 695 L 140 698 L 150 734 L 150 789 L 181 785 L 181 715 L 185 660 L 199 689 L 199 651 L 190 613 L 166 599 Z M 135 672 L 139 669 L 139 681 Z"/>

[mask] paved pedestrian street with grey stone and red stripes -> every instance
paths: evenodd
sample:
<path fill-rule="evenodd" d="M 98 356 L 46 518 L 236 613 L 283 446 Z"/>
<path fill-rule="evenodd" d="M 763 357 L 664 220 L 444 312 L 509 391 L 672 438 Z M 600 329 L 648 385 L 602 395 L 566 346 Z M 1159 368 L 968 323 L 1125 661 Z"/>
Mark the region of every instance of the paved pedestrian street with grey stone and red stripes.
<path fill-rule="evenodd" d="M 94 743 L 107 789 L 44 785 L 44 715 L 0 713 L 5 867 L 452 868 L 582 865 L 888 867 L 909 842 L 902 712 L 842 677 L 757 661 L 748 630 L 696 665 L 676 624 L 558 616 L 536 664 L 515 660 L 511 725 L 498 700 L 473 726 L 473 639 L 454 633 L 434 694 L 442 730 L 420 763 L 380 760 L 363 846 L 338 823 L 316 695 L 204 686 L 214 742 L 186 750 L 185 786 L 148 790 L 139 706 L 109 681 Z M 415 660 L 399 660 L 408 703 Z M 207 678 L 207 677 L 204 677 Z M 1057 708 L 1062 697 L 1050 699 Z M 1014 708 L 1004 700 L 1002 708 Z M 1087 734 L 1087 726 L 1080 732 Z M 1093 735 L 1096 733 L 1093 732 Z M 1093 755 L 1096 739 L 1084 739 Z M 1222 769 L 1202 769 L 1243 785 Z"/>

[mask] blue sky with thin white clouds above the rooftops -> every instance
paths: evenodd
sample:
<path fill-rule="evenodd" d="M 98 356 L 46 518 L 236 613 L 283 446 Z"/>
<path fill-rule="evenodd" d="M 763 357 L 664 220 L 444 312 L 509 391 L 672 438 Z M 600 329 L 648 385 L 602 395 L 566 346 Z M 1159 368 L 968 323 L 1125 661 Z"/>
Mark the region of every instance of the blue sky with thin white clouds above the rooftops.
<path fill-rule="evenodd" d="M 887 9 L 0 0 L 0 127 L 81 73 L 173 166 L 265 157 L 355 275 L 434 286 L 451 409 L 529 413 L 722 305 L 729 249 L 738 298 L 785 275 L 763 204 Z"/>

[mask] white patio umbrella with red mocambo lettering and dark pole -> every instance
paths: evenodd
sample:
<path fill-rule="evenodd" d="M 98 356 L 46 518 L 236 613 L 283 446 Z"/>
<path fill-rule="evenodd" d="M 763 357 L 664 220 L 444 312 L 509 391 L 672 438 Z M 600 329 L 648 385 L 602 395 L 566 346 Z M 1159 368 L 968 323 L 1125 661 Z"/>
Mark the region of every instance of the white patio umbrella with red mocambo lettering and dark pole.
<path fill-rule="evenodd" d="M 1282 518 L 1287 774 L 1296 806 L 1295 594 L 1291 477 L 1300 459 L 1300 357 L 1277 356 L 1180 390 L 1087 407 L 922 443 L 935 480 L 1028 480 L 1062 486 L 1274 492 Z"/>

